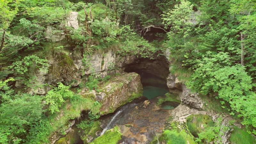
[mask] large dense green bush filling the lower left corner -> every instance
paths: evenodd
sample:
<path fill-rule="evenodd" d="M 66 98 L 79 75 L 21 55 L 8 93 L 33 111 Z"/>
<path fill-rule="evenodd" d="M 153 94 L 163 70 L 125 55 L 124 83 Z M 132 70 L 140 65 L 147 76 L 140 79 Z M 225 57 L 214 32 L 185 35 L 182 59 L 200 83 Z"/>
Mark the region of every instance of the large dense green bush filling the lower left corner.
<path fill-rule="evenodd" d="M 0 141 L 18 143 L 27 135 L 31 125 L 42 118 L 42 97 L 38 95 L 16 95 L 15 99 L 1 104 L 0 107 Z M 9 142 L 8 142 L 9 143 Z"/>

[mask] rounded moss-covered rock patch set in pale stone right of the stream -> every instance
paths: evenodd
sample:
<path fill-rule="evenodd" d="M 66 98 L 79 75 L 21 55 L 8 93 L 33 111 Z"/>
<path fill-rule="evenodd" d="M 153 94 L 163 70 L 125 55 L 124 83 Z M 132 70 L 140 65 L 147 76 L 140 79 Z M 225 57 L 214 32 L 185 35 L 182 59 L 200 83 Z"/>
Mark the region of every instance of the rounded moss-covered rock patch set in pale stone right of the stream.
<path fill-rule="evenodd" d="M 209 115 L 190 115 L 186 119 L 188 129 L 195 137 L 198 137 L 198 133 L 203 132 L 207 127 L 214 126 L 212 117 Z"/>

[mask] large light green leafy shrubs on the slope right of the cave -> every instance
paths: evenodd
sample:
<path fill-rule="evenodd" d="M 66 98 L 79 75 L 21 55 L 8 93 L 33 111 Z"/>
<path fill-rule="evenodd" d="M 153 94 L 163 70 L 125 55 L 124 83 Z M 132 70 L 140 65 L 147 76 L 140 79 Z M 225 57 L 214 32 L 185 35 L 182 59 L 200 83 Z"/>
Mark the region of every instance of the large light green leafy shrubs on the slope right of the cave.
<path fill-rule="evenodd" d="M 230 104 L 231 115 L 239 112 L 238 116 L 244 117 L 242 124 L 256 126 L 255 110 L 251 108 L 256 101 L 256 94 L 251 91 L 254 84 L 243 66 L 231 66 L 227 53 L 208 52 L 195 67 L 192 81 L 187 83 L 189 88 L 205 95 L 218 92 L 216 98 Z"/>

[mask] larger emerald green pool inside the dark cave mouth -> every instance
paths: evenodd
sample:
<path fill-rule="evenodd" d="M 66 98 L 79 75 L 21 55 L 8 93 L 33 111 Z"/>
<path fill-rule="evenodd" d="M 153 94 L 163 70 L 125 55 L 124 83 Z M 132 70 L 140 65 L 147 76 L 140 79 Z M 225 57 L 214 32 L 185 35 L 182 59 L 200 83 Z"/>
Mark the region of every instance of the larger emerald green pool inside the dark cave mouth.
<path fill-rule="evenodd" d="M 168 89 L 155 86 L 143 86 L 143 96 L 147 97 L 149 100 L 164 95 L 167 92 L 169 92 Z"/>

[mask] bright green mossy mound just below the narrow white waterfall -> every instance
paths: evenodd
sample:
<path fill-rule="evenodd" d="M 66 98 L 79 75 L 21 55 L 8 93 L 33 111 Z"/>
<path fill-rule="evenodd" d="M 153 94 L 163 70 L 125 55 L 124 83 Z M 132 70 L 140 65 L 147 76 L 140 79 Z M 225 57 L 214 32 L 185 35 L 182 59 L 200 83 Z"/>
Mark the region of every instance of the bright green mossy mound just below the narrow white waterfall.
<path fill-rule="evenodd" d="M 122 134 L 118 130 L 118 127 L 106 131 L 102 136 L 99 136 L 90 144 L 117 144 L 119 140 L 122 139 Z"/>

